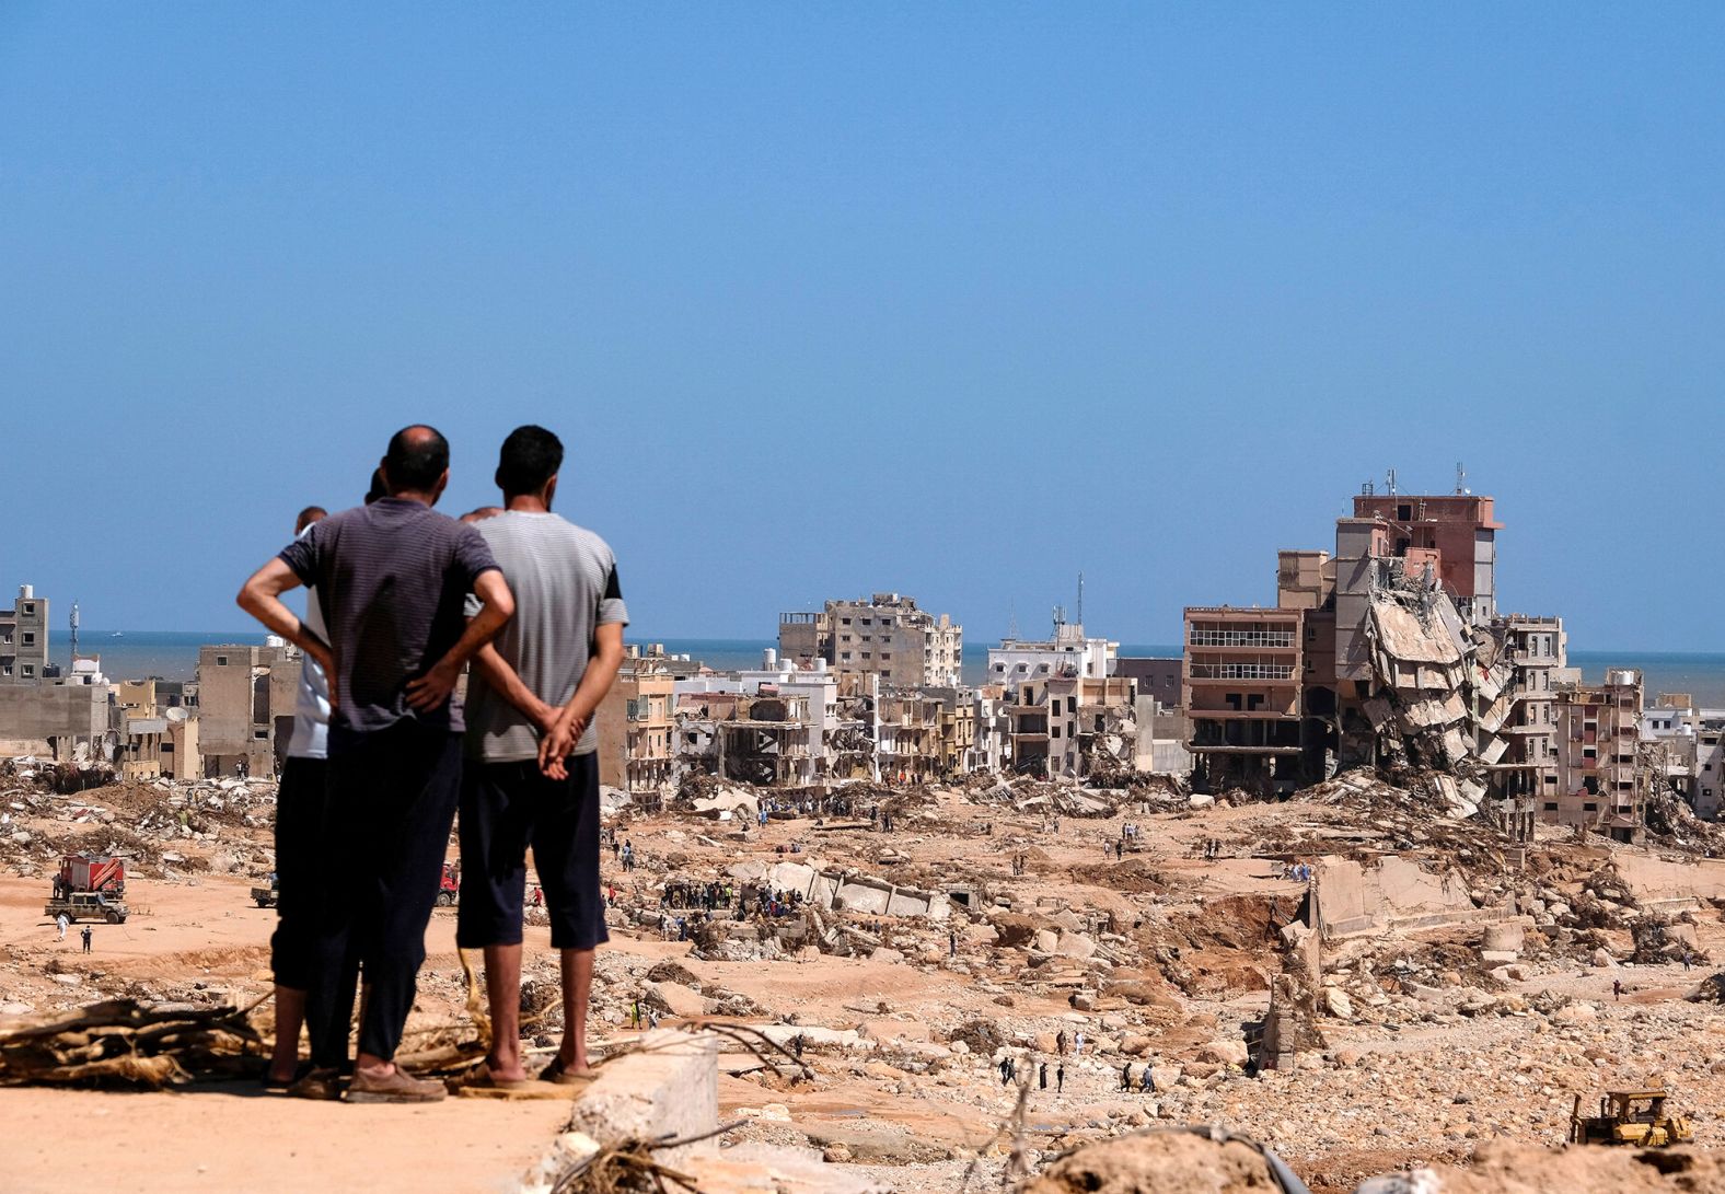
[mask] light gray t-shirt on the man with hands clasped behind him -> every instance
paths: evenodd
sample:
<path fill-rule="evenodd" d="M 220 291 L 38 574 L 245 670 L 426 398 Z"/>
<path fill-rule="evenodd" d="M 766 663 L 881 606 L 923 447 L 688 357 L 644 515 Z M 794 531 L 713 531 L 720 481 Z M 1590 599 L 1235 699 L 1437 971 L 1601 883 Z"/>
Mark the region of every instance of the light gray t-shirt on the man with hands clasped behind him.
<path fill-rule="evenodd" d="M 540 701 L 568 704 L 593 654 L 593 628 L 630 621 L 611 547 L 557 514 L 505 511 L 478 530 L 516 595 L 516 616 L 492 645 Z M 597 747 L 590 721 L 574 754 Z M 466 751 L 485 763 L 538 757 L 538 730 L 478 669 L 467 682 Z"/>

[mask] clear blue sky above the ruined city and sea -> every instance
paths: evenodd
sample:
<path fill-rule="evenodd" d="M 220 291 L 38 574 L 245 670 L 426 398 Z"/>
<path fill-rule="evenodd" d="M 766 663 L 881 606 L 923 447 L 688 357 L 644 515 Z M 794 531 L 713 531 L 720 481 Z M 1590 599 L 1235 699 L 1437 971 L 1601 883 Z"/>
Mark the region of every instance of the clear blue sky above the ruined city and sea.
<path fill-rule="evenodd" d="M 397 426 L 454 512 L 538 421 L 642 637 L 987 640 L 1082 569 L 1170 642 L 1465 461 L 1504 607 L 1725 649 L 1722 60 L 1716 5 L 7 3 L 0 587 L 245 628 Z"/>

